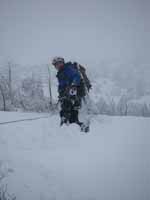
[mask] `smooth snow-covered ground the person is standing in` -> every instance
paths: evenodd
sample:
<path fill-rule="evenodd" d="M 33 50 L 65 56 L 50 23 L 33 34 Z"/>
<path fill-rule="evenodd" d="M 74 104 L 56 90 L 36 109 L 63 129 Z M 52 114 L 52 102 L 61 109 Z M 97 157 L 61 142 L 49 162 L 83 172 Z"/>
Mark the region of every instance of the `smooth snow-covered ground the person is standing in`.
<path fill-rule="evenodd" d="M 17 200 L 149 200 L 149 153 L 150 118 L 94 116 L 88 134 L 58 115 L 0 125 L 1 184 Z"/>

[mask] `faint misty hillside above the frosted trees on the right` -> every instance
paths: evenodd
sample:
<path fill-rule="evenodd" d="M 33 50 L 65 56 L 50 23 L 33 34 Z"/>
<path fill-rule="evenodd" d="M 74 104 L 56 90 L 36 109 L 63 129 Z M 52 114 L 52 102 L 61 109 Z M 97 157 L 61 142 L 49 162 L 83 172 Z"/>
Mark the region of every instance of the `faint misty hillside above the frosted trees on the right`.
<path fill-rule="evenodd" d="M 143 61 L 103 61 L 91 68 L 92 73 L 99 78 L 112 80 L 120 88 L 131 89 L 133 95 L 137 98 L 150 92 L 150 64 L 144 64 Z"/>

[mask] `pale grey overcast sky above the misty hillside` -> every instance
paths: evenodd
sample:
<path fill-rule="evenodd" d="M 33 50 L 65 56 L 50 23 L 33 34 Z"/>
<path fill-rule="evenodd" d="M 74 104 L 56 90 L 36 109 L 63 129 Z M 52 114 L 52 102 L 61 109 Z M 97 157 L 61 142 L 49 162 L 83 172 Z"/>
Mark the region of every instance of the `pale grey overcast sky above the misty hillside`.
<path fill-rule="evenodd" d="M 0 61 L 147 59 L 149 0 L 0 0 Z"/>

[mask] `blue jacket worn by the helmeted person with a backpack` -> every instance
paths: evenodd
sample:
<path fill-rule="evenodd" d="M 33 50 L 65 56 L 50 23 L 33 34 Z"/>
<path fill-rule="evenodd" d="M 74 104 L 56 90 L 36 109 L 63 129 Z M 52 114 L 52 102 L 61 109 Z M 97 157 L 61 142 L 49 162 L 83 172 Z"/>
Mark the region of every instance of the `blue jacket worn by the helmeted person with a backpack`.
<path fill-rule="evenodd" d="M 74 64 L 71 62 L 65 63 L 63 69 L 57 73 L 58 90 L 62 91 L 71 84 L 80 85 L 81 77 Z"/>

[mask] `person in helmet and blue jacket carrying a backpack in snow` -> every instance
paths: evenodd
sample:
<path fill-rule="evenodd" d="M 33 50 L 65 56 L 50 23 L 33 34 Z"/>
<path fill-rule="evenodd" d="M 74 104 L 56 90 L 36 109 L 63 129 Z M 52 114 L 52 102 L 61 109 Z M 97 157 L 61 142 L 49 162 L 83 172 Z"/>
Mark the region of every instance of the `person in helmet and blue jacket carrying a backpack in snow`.
<path fill-rule="evenodd" d="M 64 58 L 61 57 L 53 58 L 52 64 L 58 71 L 56 77 L 61 105 L 60 125 L 77 123 L 82 126 L 83 123 L 79 121 L 78 113 L 82 99 L 85 98 L 86 92 L 91 88 L 85 68 L 77 63 L 65 63 Z"/>

